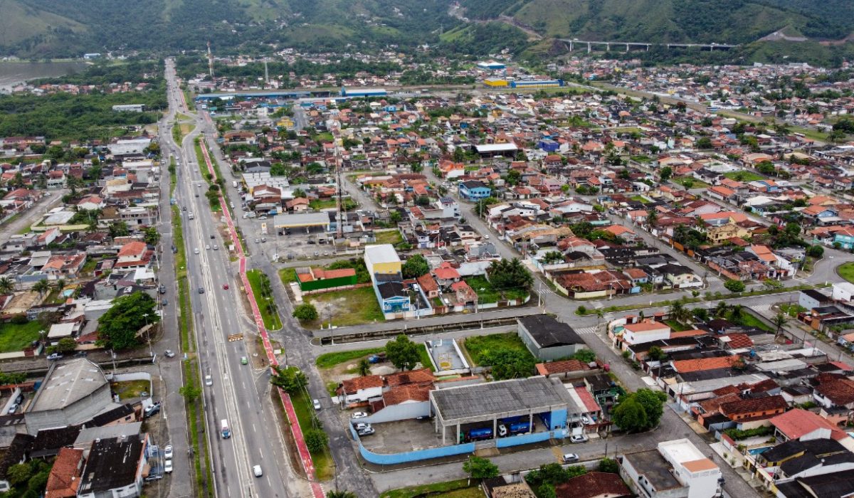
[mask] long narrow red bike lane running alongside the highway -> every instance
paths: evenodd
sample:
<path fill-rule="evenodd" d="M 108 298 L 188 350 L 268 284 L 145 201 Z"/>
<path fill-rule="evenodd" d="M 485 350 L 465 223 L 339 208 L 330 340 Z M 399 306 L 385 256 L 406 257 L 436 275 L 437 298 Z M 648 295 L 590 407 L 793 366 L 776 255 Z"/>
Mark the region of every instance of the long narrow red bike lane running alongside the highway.
<path fill-rule="evenodd" d="M 181 98 L 182 100 L 184 99 L 184 92 L 181 92 Z M 210 119 L 207 114 L 205 115 L 205 118 L 208 120 Z M 202 143 L 201 145 L 202 155 L 204 155 L 205 163 L 208 166 L 208 173 L 213 175 L 213 178 L 216 178 L 216 171 L 213 169 L 213 164 L 211 163 L 210 155 L 208 155 L 208 146 L 204 143 Z M 270 337 L 267 335 L 266 328 L 264 327 L 264 320 L 261 319 L 261 313 L 258 308 L 258 302 L 255 301 L 255 296 L 252 292 L 252 286 L 249 285 L 249 278 L 246 277 L 246 255 L 243 253 L 243 245 L 240 243 L 240 239 L 237 237 L 237 230 L 235 230 L 234 227 L 234 220 L 231 219 L 231 212 L 228 210 L 228 206 L 225 203 L 225 197 L 222 195 L 221 191 L 219 192 L 219 206 L 220 208 L 222 208 L 223 216 L 225 216 L 225 223 L 228 225 L 229 234 L 231 235 L 231 242 L 234 244 L 235 249 L 237 249 L 240 280 L 243 283 L 243 289 L 246 290 L 246 296 L 249 298 L 249 307 L 252 308 L 252 314 L 255 319 L 255 325 L 258 327 L 261 340 L 264 343 L 264 351 L 266 352 L 267 361 L 272 366 L 278 366 L 278 360 L 276 359 L 276 355 L 272 352 Z M 275 227 L 273 229 L 275 230 Z M 299 421 L 296 418 L 294 404 L 290 401 L 290 395 L 288 395 L 288 393 L 284 390 L 278 389 L 278 396 L 282 400 L 282 404 L 284 405 L 284 412 L 288 415 L 288 419 L 291 421 L 290 431 L 294 436 L 294 441 L 296 442 L 296 449 L 297 452 L 300 454 L 300 460 L 302 461 L 302 467 L 303 469 L 305 469 L 308 481 L 311 483 L 312 494 L 314 495 L 314 498 L 324 498 L 325 494 L 323 488 L 321 488 L 320 486 L 320 483 L 317 482 L 317 478 L 314 473 L 314 464 L 312 461 L 312 456 L 308 452 L 306 440 L 302 435 L 302 428 L 300 427 Z"/>

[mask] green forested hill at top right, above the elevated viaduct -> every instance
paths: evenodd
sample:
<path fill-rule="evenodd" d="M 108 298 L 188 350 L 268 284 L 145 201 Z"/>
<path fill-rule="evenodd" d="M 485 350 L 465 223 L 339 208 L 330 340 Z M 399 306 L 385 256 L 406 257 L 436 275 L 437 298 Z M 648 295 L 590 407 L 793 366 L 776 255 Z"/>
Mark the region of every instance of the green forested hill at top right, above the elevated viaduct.
<path fill-rule="evenodd" d="M 771 32 L 840 39 L 851 0 L 459 0 L 471 20 L 512 16 L 554 38 L 746 44 Z"/>

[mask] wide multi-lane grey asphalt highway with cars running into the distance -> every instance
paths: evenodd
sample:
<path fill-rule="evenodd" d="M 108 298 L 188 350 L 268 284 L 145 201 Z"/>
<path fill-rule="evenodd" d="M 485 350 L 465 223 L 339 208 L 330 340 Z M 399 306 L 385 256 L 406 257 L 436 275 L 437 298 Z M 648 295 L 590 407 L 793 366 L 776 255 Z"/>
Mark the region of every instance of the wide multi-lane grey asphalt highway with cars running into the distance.
<path fill-rule="evenodd" d="M 184 107 L 175 79 L 173 63 L 167 62 L 171 120 L 176 110 L 190 114 Z M 202 120 L 200 116 L 196 119 Z M 204 192 L 207 182 L 196 161 L 193 139 L 201 127 L 174 144 L 167 130 L 164 156 L 180 158 L 178 184 L 174 198 L 181 209 L 184 245 L 187 251 L 187 275 L 190 305 L 202 378 L 210 375 L 213 385 L 203 386 L 208 439 L 213 455 L 216 495 L 250 498 L 301 495 L 284 455 L 284 440 L 275 412 L 270 407 L 269 372 L 254 358 L 246 341 L 228 341 L 228 336 L 254 331 L 254 323 L 244 313 L 237 266 L 229 261 L 228 243 L 219 237 L 219 217 L 214 218 Z M 186 210 L 183 210 L 186 208 Z M 189 214 L 195 216 L 190 220 Z M 213 236 L 213 239 L 211 238 Z M 213 246 L 219 250 L 213 250 Z M 211 249 L 205 249 L 209 245 Z M 195 254 L 198 249 L 198 254 Z M 223 286 L 228 284 L 229 289 Z M 203 290 L 203 292 L 200 292 Z M 177 300 L 176 300 L 177 304 Z M 247 335 L 252 340 L 254 335 Z M 242 365 L 246 357 L 249 365 Z M 219 436 L 220 420 L 227 420 L 232 436 Z M 254 477 L 253 466 L 260 465 L 261 477 Z M 174 476 L 189 475 L 176 462 Z"/>

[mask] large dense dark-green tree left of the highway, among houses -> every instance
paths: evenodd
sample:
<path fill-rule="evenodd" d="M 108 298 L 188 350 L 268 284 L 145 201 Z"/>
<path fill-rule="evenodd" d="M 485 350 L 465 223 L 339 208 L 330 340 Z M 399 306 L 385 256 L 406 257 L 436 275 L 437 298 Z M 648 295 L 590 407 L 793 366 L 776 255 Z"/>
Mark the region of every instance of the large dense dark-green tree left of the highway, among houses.
<path fill-rule="evenodd" d="M 137 331 L 160 321 L 155 300 L 143 291 L 121 296 L 98 320 L 98 344 L 104 349 L 130 349 L 137 345 Z"/>

